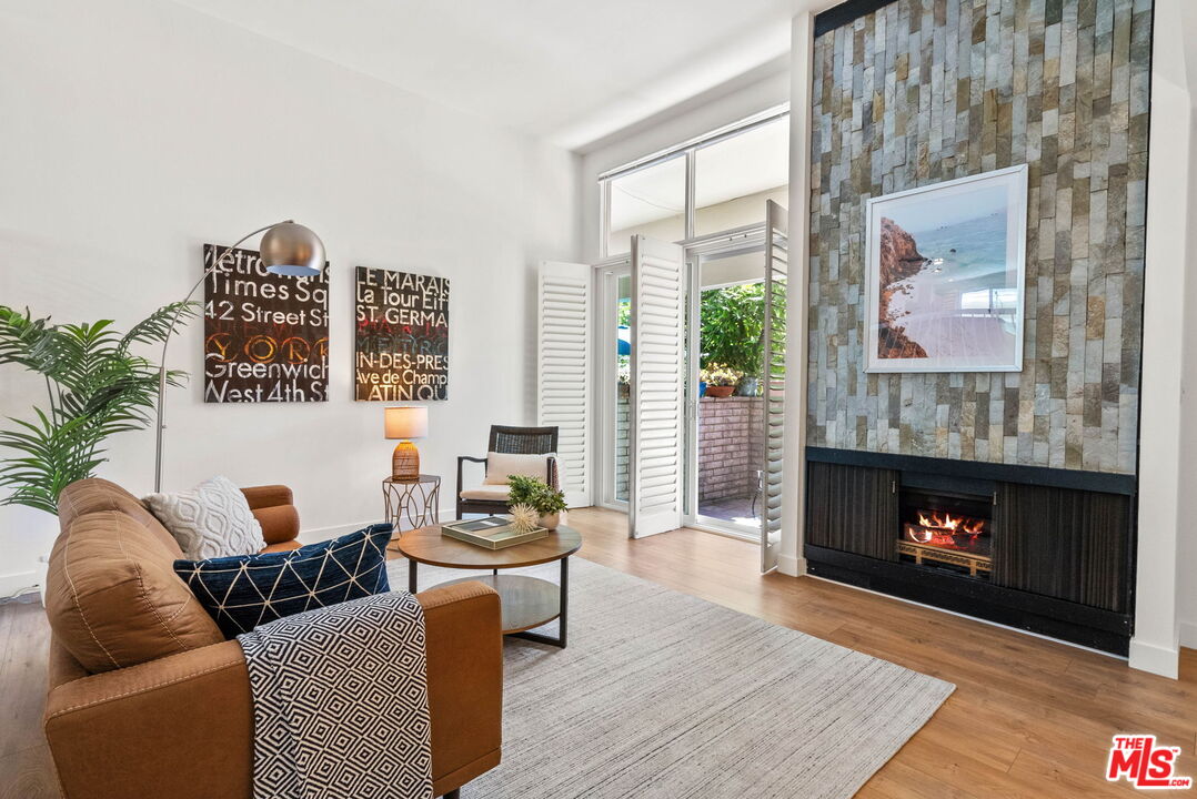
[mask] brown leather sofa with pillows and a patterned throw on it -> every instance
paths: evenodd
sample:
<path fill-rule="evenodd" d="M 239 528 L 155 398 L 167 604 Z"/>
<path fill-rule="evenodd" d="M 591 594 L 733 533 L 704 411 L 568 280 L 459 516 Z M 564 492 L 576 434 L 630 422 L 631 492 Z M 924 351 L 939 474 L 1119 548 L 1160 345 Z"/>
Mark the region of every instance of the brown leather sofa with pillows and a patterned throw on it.
<path fill-rule="evenodd" d="M 267 550 L 298 547 L 284 486 L 244 489 Z M 182 553 L 132 494 L 84 480 L 59 500 L 45 609 L 45 737 L 68 799 L 249 799 L 254 721 L 241 646 L 172 569 Z M 418 594 L 427 629 L 436 795 L 499 763 L 499 598 L 481 583 Z"/>

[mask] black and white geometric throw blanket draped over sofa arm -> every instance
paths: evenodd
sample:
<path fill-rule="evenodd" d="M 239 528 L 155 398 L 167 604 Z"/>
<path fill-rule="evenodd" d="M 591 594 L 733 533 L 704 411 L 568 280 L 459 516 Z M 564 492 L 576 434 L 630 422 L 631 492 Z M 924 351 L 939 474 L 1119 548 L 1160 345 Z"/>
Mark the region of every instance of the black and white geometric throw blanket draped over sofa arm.
<path fill-rule="evenodd" d="M 238 635 L 254 799 L 430 799 L 424 609 L 378 593 Z"/>

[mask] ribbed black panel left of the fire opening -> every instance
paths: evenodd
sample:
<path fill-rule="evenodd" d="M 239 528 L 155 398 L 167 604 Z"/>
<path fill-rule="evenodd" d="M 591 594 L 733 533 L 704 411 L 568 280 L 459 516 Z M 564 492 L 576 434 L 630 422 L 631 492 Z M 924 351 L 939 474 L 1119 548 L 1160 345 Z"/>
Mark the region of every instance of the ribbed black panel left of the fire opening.
<path fill-rule="evenodd" d="M 807 543 L 898 560 L 898 472 L 810 463 Z"/>

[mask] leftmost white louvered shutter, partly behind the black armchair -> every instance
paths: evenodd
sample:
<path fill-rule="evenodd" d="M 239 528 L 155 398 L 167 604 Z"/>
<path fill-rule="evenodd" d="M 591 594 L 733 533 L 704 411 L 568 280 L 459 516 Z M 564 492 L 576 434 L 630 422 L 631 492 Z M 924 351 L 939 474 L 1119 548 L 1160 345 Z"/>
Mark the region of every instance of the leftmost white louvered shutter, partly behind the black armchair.
<path fill-rule="evenodd" d="M 536 415 L 558 428 L 557 455 L 565 501 L 593 505 L 590 496 L 590 350 L 593 268 L 584 263 L 540 264 Z"/>

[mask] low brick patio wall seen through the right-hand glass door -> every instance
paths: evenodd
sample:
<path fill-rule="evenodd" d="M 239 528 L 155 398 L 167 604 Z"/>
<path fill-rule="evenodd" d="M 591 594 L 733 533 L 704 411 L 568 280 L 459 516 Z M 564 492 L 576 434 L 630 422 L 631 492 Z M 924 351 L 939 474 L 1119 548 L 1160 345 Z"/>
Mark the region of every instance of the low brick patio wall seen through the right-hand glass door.
<path fill-rule="evenodd" d="M 698 402 L 698 499 L 752 496 L 764 459 L 760 397 L 703 397 Z"/>

